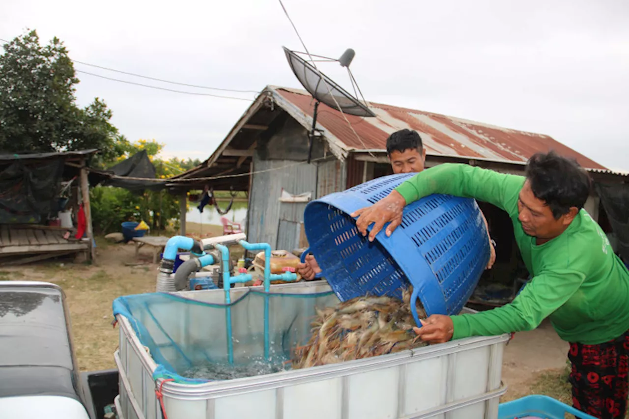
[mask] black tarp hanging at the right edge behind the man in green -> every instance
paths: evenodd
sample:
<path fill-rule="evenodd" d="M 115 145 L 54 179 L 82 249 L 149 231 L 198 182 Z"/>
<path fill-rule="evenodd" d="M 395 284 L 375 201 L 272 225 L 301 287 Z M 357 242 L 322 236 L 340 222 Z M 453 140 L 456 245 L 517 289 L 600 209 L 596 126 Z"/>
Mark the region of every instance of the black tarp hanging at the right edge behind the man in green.
<path fill-rule="evenodd" d="M 594 189 L 601 198 L 611 229 L 618 240 L 616 251 L 625 262 L 629 261 L 629 184 L 595 182 Z"/>

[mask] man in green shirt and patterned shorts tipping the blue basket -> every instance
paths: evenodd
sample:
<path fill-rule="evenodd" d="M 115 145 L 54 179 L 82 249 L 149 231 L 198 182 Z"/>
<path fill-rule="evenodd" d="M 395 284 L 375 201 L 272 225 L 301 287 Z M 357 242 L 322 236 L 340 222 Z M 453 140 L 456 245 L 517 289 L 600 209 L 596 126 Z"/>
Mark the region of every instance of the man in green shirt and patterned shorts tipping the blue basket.
<path fill-rule="evenodd" d="M 606 235 L 583 209 L 586 172 L 554 152 L 534 155 L 526 176 L 464 164 L 442 164 L 400 184 L 386 198 L 352 214 L 369 240 L 389 236 L 406 204 L 433 193 L 476 198 L 506 211 L 532 279 L 513 302 L 474 315 L 432 315 L 415 332 L 431 343 L 532 330 L 550 321 L 571 344 L 575 408 L 623 418 L 628 393 L 629 272 Z"/>

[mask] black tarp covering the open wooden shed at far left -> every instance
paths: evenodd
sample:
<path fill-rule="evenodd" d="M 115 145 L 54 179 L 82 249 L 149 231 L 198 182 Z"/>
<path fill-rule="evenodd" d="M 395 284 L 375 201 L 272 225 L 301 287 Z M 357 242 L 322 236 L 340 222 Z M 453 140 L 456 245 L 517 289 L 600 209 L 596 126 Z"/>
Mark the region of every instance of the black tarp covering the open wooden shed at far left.
<path fill-rule="evenodd" d="M 0 224 L 40 223 L 58 209 L 55 198 L 64 173 L 63 155 L 47 155 L 44 160 L 2 157 Z"/>

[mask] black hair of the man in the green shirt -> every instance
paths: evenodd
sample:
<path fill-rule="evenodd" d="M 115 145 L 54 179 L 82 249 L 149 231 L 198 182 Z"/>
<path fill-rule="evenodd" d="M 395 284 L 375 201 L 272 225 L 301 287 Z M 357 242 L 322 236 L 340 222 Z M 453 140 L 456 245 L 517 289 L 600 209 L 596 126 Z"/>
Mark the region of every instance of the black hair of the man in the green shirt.
<path fill-rule="evenodd" d="M 581 210 L 591 187 L 590 177 L 576 160 L 554 151 L 537 153 L 528 159 L 526 179 L 535 198 L 545 201 L 555 220 L 573 206 Z"/>

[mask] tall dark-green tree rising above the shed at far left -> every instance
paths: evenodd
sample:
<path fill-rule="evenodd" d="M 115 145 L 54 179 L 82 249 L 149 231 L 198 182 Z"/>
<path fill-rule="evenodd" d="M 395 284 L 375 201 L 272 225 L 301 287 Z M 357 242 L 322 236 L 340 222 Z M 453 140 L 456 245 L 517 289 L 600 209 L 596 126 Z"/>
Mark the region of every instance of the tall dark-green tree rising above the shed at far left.
<path fill-rule="evenodd" d="M 40 45 L 36 31 L 14 38 L 0 55 L 0 150 L 55 152 L 99 148 L 113 154 L 118 130 L 111 110 L 96 98 L 84 109 L 75 104 L 74 65 L 56 37 Z"/>

